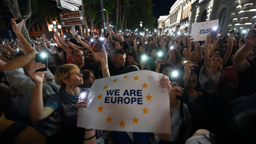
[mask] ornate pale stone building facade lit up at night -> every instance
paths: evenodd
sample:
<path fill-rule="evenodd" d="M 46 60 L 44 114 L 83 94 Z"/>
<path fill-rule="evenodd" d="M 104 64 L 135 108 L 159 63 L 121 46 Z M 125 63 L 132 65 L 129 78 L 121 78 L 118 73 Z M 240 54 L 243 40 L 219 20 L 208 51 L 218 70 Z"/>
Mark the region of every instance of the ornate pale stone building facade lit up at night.
<path fill-rule="evenodd" d="M 247 30 L 256 23 L 255 0 L 177 0 L 169 15 L 160 16 L 158 28 L 174 32 L 180 23 L 182 30 L 192 23 L 219 19 L 219 32 L 227 34 L 231 28 Z M 190 30 L 188 31 L 188 33 Z"/>

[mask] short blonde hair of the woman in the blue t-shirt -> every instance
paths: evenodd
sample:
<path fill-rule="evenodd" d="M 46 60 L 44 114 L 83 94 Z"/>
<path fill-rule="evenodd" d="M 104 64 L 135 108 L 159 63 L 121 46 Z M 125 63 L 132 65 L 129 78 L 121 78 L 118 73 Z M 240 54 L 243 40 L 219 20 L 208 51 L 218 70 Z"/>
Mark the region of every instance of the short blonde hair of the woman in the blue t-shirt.
<path fill-rule="evenodd" d="M 74 64 L 61 65 L 54 74 L 54 80 L 57 84 L 67 86 L 63 80 L 69 79 L 70 73 L 80 72 L 80 69 Z"/>

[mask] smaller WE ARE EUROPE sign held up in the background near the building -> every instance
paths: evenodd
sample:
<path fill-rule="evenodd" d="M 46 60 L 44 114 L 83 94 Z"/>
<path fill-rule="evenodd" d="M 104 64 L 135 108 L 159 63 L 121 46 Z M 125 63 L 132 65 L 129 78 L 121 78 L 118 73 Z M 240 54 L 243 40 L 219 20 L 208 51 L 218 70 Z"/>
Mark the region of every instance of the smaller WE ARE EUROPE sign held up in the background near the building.
<path fill-rule="evenodd" d="M 193 23 L 191 35 L 193 41 L 204 41 L 208 34 L 211 33 L 213 27 L 219 26 L 219 20 L 206 21 L 201 23 Z"/>

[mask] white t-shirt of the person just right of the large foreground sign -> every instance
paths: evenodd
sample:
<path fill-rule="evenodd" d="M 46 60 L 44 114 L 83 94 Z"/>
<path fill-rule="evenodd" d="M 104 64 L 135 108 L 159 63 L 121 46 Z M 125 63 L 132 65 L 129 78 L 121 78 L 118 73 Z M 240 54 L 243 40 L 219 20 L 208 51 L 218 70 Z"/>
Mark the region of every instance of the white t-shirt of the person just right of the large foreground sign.
<path fill-rule="evenodd" d="M 180 106 L 181 101 L 172 109 L 170 109 L 171 113 L 171 136 L 169 137 L 169 141 L 175 141 L 179 137 L 179 130 L 181 127 L 181 115 L 180 115 Z M 191 119 L 191 115 L 188 111 L 187 105 L 183 103 L 183 121 L 187 121 L 187 119 Z"/>

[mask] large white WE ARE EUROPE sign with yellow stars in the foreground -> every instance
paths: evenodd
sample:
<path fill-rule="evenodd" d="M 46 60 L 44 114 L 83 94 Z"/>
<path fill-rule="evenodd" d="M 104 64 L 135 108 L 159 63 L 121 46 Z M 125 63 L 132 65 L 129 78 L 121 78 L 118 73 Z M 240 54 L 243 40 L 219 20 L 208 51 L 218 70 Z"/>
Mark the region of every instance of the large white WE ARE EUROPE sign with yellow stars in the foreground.
<path fill-rule="evenodd" d="M 167 88 L 162 74 L 142 70 L 98 79 L 80 99 L 77 126 L 109 131 L 171 134 Z"/>

